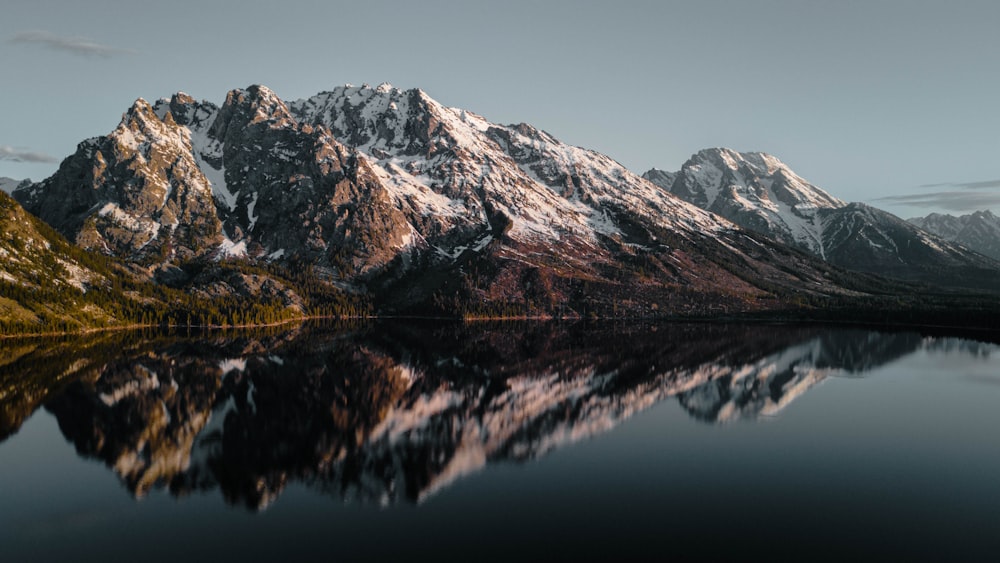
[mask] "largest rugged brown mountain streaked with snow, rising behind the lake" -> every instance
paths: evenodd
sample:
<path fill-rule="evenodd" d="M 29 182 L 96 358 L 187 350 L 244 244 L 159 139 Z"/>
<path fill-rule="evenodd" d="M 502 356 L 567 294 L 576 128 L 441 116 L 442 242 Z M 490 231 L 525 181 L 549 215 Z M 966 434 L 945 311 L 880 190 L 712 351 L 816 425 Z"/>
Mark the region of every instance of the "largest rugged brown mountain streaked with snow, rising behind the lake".
<path fill-rule="evenodd" d="M 607 156 L 385 84 L 292 103 L 263 86 L 222 106 L 140 99 L 14 195 L 84 248 L 159 271 L 225 257 L 307 264 L 395 307 L 746 310 L 783 287 L 855 283 Z"/>

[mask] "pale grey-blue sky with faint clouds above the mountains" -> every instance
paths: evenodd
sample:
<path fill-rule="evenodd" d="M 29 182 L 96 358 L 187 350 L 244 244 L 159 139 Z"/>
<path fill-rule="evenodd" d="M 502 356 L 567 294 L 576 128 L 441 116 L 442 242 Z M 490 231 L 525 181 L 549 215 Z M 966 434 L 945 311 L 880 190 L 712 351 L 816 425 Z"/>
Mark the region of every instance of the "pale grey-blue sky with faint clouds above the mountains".
<path fill-rule="evenodd" d="M 0 176 L 136 98 L 421 88 L 636 173 L 763 151 L 902 217 L 1000 214 L 1000 2 L 3 0 Z"/>

